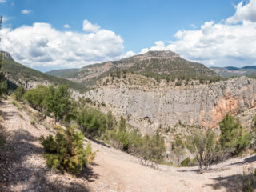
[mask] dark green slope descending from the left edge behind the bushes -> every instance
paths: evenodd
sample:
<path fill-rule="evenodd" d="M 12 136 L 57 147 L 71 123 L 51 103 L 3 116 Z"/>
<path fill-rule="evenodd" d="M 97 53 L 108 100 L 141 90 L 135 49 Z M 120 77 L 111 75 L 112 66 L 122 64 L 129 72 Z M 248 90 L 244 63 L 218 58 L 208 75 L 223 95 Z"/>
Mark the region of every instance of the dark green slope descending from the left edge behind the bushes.
<path fill-rule="evenodd" d="M 16 85 L 26 86 L 30 88 L 36 84 L 66 84 L 70 86 L 71 89 L 83 92 L 86 90 L 85 86 L 78 84 L 77 82 L 72 82 L 67 79 L 57 78 L 49 74 L 44 74 L 38 70 L 33 70 L 29 67 L 23 66 L 18 62 L 15 62 L 11 58 L 10 54 L 5 51 L 1 51 L 0 54 L 3 56 L 2 72 L 5 77 L 12 83 Z"/>

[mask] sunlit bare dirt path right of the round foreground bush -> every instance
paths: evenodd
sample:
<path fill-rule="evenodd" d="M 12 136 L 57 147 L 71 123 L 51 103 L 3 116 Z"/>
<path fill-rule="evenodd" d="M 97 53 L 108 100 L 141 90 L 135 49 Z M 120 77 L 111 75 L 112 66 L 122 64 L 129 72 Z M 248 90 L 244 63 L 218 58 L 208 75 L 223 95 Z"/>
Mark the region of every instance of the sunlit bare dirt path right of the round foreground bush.
<path fill-rule="evenodd" d="M 92 183 L 98 189 L 94 191 L 238 191 L 235 175 L 246 168 L 256 168 L 253 155 L 212 166 L 214 170 L 205 174 L 198 174 L 197 167 L 158 166 L 160 170 L 154 170 L 122 151 L 95 143 L 93 146 L 99 150 L 94 171 L 100 174 Z"/>

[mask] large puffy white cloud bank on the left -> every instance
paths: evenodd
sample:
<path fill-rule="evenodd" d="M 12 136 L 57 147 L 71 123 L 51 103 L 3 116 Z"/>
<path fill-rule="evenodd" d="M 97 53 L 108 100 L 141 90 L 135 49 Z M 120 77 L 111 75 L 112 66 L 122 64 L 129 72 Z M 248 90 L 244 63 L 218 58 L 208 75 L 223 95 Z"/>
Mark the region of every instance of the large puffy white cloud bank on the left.
<path fill-rule="evenodd" d="M 114 60 L 122 54 L 123 40 L 110 30 L 84 34 L 55 30 L 48 23 L 34 23 L 0 31 L 1 50 L 30 67 L 74 68 Z"/>

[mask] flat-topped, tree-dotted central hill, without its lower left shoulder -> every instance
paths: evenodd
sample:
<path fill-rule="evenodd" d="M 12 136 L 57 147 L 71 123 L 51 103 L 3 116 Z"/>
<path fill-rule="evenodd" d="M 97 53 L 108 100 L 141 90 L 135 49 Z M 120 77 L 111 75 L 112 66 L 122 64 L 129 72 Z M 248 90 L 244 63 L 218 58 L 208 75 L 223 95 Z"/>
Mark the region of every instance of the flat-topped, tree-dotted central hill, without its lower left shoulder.
<path fill-rule="evenodd" d="M 151 78 L 189 78 L 189 79 L 215 79 L 218 74 L 198 62 L 190 62 L 180 58 L 173 52 L 150 51 L 145 54 L 145 58 L 140 57 L 125 58 L 122 63 L 134 65 L 127 70 L 142 74 Z"/>

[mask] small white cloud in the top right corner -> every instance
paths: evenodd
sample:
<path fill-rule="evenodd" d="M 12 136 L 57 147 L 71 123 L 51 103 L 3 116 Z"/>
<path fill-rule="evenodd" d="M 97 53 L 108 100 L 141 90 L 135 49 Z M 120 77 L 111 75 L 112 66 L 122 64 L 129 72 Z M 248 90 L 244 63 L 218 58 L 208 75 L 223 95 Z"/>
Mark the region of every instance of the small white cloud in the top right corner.
<path fill-rule="evenodd" d="M 242 21 L 256 22 L 256 0 L 250 0 L 246 5 L 240 2 L 235 8 L 235 14 L 226 19 L 227 23 L 238 23 Z"/>

